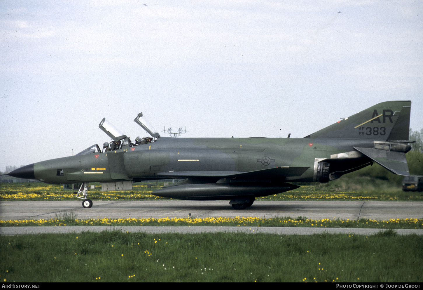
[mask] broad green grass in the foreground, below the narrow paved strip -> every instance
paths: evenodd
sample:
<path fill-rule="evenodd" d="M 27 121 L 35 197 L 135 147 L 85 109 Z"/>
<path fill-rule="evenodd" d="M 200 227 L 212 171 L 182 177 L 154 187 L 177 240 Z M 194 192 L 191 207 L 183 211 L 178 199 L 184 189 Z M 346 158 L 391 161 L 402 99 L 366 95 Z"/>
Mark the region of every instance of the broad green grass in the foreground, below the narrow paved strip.
<path fill-rule="evenodd" d="M 423 237 L 83 232 L 0 236 L 6 282 L 422 282 Z M 5 280 L 4 280 L 5 279 Z"/>

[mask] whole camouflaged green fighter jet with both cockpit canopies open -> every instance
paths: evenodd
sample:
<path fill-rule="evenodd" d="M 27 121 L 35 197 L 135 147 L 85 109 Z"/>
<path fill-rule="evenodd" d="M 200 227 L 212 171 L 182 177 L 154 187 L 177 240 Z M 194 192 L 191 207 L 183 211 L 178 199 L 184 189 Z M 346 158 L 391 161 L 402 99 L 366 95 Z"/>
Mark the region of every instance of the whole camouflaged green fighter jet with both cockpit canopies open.
<path fill-rule="evenodd" d="M 89 182 L 178 179 L 153 194 L 229 199 L 241 210 L 256 197 L 299 188 L 290 182 L 329 182 L 374 162 L 409 176 L 410 110 L 411 101 L 382 102 L 304 138 L 161 137 L 139 113 L 134 121 L 151 137 L 137 138 L 134 144 L 103 119 L 99 128 L 113 141 L 102 150 L 94 144 L 77 155 L 33 163 L 8 175 L 51 184 L 82 182 L 77 197 L 85 208 L 93 204 Z"/>

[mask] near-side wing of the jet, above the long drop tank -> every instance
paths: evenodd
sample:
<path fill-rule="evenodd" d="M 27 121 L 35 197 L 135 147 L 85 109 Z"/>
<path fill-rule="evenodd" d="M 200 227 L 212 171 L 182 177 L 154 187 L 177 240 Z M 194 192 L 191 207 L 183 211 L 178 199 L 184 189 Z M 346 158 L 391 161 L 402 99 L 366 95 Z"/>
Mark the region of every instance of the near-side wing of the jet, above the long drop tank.
<path fill-rule="evenodd" d="M 159 176 L 169 178 L 183 177 L 248 177 L 248 178 L 272 178 L 301 176 L 310 167 L 275 167 L 249 172 L 241 171 L 170 171 L 160 172 Z"/>

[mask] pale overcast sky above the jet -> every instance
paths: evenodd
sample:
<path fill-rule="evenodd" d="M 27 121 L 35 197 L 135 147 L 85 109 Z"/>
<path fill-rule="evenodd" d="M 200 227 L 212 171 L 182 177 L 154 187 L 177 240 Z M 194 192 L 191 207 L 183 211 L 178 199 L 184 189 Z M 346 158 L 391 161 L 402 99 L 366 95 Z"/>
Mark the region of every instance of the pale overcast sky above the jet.
<path fill-rule="evenodd" d="M 0 170 L 147 134 L 302 138 L 379 102 L 423 127 L 423 2 L 3 0 Z M 341 13 L 338 13 L 341 12 Z"/>

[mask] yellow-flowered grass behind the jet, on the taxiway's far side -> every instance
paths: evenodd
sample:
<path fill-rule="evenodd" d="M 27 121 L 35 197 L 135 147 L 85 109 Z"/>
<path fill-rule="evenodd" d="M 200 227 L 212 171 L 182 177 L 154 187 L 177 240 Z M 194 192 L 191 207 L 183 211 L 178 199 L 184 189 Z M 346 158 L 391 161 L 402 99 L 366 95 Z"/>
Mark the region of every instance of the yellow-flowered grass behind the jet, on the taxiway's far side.
<path fill-rule="evenodd" d="M 101 191 L 99 183 L 88 192 L 92 200 L 159 200 L 147 183 L 135 183 L 131 191 Z M 163 183 L 158 183 L 159 188 Z M 301 185 L 286 193 L 259 197 L 256 200 L 379 200 L 379 201 L 423 201 L 422 192 L 402 191 L 401 187 L 385 180 L 365 178 L 335 180 L 327 184 Z M 62 185 L 45 183 L 0 183 L 0 201 L 13 200 L 74 200 L 72 190 Z"/>

